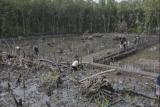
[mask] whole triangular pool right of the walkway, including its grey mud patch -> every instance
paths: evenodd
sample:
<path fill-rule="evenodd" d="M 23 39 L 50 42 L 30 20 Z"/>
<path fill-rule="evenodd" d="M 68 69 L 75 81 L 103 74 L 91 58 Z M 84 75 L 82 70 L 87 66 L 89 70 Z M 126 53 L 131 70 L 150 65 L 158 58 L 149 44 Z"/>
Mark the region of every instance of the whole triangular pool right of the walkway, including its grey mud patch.
<path fill-rule="evenodd" d="M 129 55 L 118 62 L 123 68 L 129 68 L 139 71 L 158 72 L 157 63 L 159 61 L 159 45 L 152 45 L 143 51 Z M 141 61 L 145 61 L 142 63 Z"/>

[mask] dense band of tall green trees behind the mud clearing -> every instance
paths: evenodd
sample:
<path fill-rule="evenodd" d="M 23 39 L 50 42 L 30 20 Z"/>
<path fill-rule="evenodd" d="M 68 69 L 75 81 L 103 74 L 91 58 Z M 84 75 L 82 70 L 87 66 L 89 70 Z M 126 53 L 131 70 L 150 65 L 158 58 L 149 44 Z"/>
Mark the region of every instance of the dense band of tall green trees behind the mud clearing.
<path fill-rule="evenodd" d="M 160 0 L 0 0 L 0 36 L 46 32 L 159 34 Z"/>

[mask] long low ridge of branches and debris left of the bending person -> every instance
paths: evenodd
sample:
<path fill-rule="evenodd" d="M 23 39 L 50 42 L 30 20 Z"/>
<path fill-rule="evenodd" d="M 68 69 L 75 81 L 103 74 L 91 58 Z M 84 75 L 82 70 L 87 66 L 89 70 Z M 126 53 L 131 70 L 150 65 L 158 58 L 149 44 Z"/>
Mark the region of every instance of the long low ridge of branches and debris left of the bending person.
<path fill-rule="evenodd" d="M 8 67 L 10 70 L 20 70 L 25 68 L 35 71 L 39 70 L 40 68 L 46 68 L 50 71 L 61 71 L 60 67 L 70 69 L 67 65 L 58 65 L 57 63 L 49 60 L 23 58 L 21 56 L 14 56 L 2 51 L 0 51 L 0 65 Z"/>

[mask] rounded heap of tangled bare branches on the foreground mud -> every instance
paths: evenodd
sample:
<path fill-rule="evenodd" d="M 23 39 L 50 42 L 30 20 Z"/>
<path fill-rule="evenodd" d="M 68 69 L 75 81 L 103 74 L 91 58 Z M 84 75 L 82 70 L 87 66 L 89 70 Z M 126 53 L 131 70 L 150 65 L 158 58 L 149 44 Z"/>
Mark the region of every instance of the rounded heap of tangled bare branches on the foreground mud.
<path fill-rule="evenodd" d="M 81 92 L 88 101 L 93 102 L 113 100 L 114 98 L 114 89 L 112 85 L 107 80 L 103 80 L 100 76 L 83 83 Z"/>

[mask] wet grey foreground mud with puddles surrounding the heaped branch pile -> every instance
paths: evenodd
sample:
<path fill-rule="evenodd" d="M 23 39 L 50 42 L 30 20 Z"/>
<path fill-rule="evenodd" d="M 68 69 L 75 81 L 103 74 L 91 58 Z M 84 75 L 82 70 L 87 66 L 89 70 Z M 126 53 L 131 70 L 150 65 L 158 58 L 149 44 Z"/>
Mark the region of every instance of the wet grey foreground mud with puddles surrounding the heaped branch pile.
<path fill-rule="evenodd" d="M 56 69 L 56 67 L 54 68 Z M 17 100 L 22 99 L 23 107 L 98 107 L 104 102 L 89 102 L 87 98 L 82 96 L 80 90 L 83 84 L 78 81 L 99 73 L 100 71 L 108 70 L 109 68 L 94 67 L 89 64 L 85 64 L 83 68 L 83 70 L 72 74 L 67 68 L 61 68 L 63 69 L 61 73 L 56 73 L 56 71 L 53 72 L 43 67 L 40 70 L 34 71 L 26 71 L 25 69 L 10 71 L 7 66 L 1 66 L 0 105 L 2 107 L 16 106 L 8 89 L 9 83 L 15 98 Z M 111 83 L 115 93 L 119 94 L 119 97 L 115 96 L 113 99 L 108 99 L 107 105 L 122 98 L 124 100 L 112 106 L 130 107 L 132 105 L 134 107 L 137 105 L 144 105 L 147 107 L 158 107 L 158 101 L 154 99 L 156 85 L 156 80 L 154 78 L 150 79 L 142 77 L 139 74 L 123 71 L 117 74 L 117 71 L 102 75 L 103 79 L 107 79 Z M 25 74 L 23 74 L 23 72 L 25 72 Z M 19 74 L 25 76 L 20 77 L 19 82 L 17 82 Z M 60 75 L 63 80 L 63 84 L 60 84 L 59 88 L 56 87 L 54 81 L 54 77 L 57 74 Z M 25 88 L 23 78 L 25 78 Z M 146 96 L 153 97 L 153 99 L 134 93 L 124 92 L 124 89 L 142 93 Z"/>

